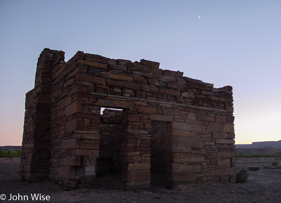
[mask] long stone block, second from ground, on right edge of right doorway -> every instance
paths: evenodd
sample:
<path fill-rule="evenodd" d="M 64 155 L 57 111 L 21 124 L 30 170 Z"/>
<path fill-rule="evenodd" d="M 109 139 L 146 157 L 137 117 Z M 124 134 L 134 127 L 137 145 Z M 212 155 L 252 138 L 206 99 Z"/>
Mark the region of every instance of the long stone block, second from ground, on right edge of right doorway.
<path fill-rule="evenodd" d="M 186 165 L 180 163 L 166 163 L 166 173 L 200 173 L 200 165 Z"/>

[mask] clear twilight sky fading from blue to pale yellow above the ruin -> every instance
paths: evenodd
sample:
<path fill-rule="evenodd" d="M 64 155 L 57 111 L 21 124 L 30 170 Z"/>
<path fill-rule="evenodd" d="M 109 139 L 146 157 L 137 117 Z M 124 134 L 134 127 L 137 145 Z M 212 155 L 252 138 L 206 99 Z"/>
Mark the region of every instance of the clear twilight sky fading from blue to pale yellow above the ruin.
<path fill-rule="evenodd" d="M 200 15 L 200 18 L 198 18 Z M 235 141 L 281 140 L 281 1 L 0 0 L 0 146 L 21 145 L 46 47 L 160 62 L 233 86 Z"/>

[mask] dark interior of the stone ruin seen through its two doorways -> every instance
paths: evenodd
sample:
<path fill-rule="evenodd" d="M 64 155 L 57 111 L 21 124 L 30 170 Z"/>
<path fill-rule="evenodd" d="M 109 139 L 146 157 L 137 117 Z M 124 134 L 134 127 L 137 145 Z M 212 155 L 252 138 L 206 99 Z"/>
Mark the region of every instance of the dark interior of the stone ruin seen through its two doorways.
<path fill-rule="evenodd" d="M 103 110 L 103 109 L 102 109 Z M 120 174 L 122 172 L 122 109 L 105 108 L 101 114 L 100 123 L 100 149 L 98 157 L 95 158 L 95 176 L 104 176 L 109 174 Z M 167 133 L 171 124 L 169 122 L 152 122 L 151 141 L 140 147 L 151 148 L 151 184 L 152 181 L 159 184 L 165 182 L 165 154 Z M 121 184 L 121 182 L 120 182 Z"/>

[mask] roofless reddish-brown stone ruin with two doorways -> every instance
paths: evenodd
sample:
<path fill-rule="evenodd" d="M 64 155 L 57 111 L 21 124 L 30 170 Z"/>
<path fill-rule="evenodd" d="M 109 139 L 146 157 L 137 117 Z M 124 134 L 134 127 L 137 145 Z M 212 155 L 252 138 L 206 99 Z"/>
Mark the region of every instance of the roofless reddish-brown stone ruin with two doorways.
<path fill-rule="evenodd" d="M 120 173 L 125 189 L 148 188 L 153 173 L 167 186 L 235 182 L 232 87 L 159 65 L 82 51 L 65 62 L 45 48 L 26 94 L 20 179 L 81 187 L 96 159 L 96 174 Z"/>

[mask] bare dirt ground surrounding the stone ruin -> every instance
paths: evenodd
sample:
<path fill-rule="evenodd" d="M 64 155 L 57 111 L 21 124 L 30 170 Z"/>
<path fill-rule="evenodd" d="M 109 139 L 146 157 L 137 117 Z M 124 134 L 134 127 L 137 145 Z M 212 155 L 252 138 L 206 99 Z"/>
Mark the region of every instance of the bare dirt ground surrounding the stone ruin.
<path fill-rule="evenodd" d="M 276 158 L 238 158 L 238 170 L 250 166 L 260 167 L 260 171 L 248 171 L 246 183 L 189 183 L 180 185 L 175 190 L 165 188 L 164 177 L 152 174 L 151 187 L 138 192 L 124 191 L 120 175 L 94 176 L 94 167 L 86 168 L 83 189 L 65 191 L 51 181 L 29 183 L 18 181 L 19 158 L 0 158 L 0 195 L 6 199 L 1 202 L 179 202 L 179 203 L 274 203 L 281 202 L 281 169 L 263 169 L 272 166 L 272 162 L 281 165 L 281 159 Z M 17 200 L 10 200 L 10 196 Z M 47 201 L 32 200 L 31 194 L 50 196 Z M 18 200 L 18 195 L 28 197 L 28 200 Z M 1 195 L 3 198 L 3 195 Z"/>

